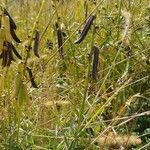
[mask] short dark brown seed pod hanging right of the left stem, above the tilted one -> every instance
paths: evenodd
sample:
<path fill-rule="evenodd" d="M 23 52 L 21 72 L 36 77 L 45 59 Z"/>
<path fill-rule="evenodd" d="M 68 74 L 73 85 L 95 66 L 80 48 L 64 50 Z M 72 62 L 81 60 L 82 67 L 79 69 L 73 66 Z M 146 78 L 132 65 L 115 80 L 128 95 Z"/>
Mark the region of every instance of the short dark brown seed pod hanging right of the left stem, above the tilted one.
<path fill-rule="evenodd" d="M 38 30 L 35 30 L 35 37 L 34 37 L 34 55 L 37 56 L 37 57 L 40 57 L 39 56 L 39 37 L 40 37 L 40 34 L 39 34 L 39 31 Z"/>

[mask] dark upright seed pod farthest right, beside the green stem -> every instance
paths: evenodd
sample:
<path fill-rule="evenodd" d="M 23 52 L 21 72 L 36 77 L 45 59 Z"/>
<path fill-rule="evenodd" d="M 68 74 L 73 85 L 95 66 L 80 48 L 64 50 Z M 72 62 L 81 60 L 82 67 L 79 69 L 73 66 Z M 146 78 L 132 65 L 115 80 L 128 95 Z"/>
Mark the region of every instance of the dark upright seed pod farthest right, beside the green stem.
<path fill-rule="evenodd" d="M 94 58 L 93 58 L 93 66 L 92 66 L 92 77 L 94 80 L 97 80 L 97 67 L 98 67 L 98 56 L 99 56 L 99 49 L 97 46 L 93 47 L 94 50 Z"/>

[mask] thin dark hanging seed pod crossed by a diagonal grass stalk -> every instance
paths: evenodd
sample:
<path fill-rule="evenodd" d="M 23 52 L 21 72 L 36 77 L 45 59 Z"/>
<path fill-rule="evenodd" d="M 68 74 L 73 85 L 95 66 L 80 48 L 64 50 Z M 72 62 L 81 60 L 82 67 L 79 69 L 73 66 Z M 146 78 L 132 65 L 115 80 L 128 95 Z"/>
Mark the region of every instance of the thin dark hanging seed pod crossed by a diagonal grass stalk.
<path fill-rule="evenodd" d="M 57 29 L 58 50 L 59 50 L 60 57 L 63 59 L 64 49 L 63 49 L 62 31 L 60 27 L 58 26 L 58 23 L 56 23 L 56 29 Z"/>

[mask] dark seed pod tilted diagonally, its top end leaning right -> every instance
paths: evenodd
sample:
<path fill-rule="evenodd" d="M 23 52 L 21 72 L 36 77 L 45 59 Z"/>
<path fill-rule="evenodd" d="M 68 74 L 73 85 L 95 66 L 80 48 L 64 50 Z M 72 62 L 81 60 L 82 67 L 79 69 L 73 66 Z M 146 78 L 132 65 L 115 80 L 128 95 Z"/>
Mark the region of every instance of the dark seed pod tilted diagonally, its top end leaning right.
<path fill-rule="evenodd" d="M 87 22 L 86 22 L 86 24 L 85 24 L 85 26 L 84 26 L 84 28 L 83 28 L 79 38 L 75 41 L 75 44 L 80 44 L 84 40 L 84 38 L 86 37 L 86 35 L 87 35 L 87 33 L 88 33 L 88 31 L 89 31 L 89 29 L 90 29 L 94 19 L 95 19 L 94 15 L 91 15 L 88 18 L 88 20 L 87 20 Z"/>

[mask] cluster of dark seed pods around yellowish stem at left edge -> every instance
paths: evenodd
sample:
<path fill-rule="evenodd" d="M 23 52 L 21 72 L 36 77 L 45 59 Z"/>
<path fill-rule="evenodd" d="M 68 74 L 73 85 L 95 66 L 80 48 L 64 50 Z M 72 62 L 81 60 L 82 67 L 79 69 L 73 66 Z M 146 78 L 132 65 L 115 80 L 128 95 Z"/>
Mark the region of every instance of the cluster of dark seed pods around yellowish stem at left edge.
<path fill-rule="evenodd" d="M 21 42 L 15 33 L 16 29 L 16 23 L 8 11 L 0 8 L 0 59 L 2 59 L 3 67 L 10 66 L 11 62 L 15 60 L 14 54 L 17 58 L 22 59 L 12 44 L 13 40 L 17 43 Z"/>

